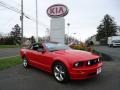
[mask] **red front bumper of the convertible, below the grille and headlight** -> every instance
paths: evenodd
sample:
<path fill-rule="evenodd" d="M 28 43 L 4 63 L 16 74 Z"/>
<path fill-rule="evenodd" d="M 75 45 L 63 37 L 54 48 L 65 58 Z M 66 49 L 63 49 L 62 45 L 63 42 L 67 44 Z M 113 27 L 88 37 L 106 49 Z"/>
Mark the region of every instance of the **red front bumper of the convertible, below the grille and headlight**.
<path fill-rule="evenodd" d="M 100 62 L 93 66 L 87 66 L 82 68 L 72 68 L 70 72 L 71 79 L 87 79 L 98 75 L 101 72 L 103 63 Z"/>

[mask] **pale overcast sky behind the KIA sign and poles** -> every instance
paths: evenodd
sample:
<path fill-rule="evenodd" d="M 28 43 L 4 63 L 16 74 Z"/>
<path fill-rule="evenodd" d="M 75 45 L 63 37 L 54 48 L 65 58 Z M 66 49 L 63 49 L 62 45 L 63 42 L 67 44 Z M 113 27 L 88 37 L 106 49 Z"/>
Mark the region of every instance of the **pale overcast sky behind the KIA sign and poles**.
<path fill-rule="evenodd" d="M 21 0 L 0 1 L 20 9 Z M 24 13 L 35 18 L 35 0 L 23 1 Z M 66 33 L 67 23 L 70 23 L 69 35 L 83 41 L 96 34 L 96 28 L 105 14 L 114 17 L 117 25 L 120 25 L 120 0 L 38 0 L 39 36 L 45 36 L 46 28 L 50 25 L 47 8 L 56 3 L 65 4 L 69 8 L 69 13 L 65 16 Z M 20 25 L 19 16 L 20 14 L 0 6 L 0 33 L 8 33 L 15 24 Z M 24 18 L 24 36 L 32 35 L 35 36 L 35 22 Z"/>

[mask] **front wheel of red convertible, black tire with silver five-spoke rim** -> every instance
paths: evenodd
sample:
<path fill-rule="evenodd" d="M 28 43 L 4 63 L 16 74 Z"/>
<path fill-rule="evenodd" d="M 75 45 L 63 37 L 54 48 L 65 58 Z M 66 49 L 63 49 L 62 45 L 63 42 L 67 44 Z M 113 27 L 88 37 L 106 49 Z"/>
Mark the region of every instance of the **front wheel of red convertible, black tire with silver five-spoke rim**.
<path fill-rule="evenodd" d="M 67 68 L 63 63 L 60 62 L 57 62 L 53 65 L 53 75 L 54 78 L 60 83 L 68 82 L 69 80 Z"/>

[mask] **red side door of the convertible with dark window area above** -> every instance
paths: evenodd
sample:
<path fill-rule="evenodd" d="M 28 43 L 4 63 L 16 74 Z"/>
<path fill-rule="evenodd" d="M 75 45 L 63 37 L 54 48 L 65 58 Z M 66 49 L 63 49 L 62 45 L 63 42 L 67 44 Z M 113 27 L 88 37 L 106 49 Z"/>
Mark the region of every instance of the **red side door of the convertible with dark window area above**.
<path fill-rule="evenodd" d="M 42 44 L 34 44 L 31 47 L 29 57 L 33 66 L 45 71 L 50 70 L 52 55 L 50 52 L 47 52 Z"/>

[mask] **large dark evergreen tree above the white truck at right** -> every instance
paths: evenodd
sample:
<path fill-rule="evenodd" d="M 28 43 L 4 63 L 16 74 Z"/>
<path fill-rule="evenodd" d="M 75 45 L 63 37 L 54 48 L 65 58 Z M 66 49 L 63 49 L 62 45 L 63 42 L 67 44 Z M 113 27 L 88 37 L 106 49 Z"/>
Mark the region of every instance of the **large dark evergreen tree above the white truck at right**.
<path fill-rule="evenodd" d="M 117 27 L 118 26 L 114 22 L 114 19 L 110 15 L 106 14 L 100 25 L 97 27 L 98 33 L 96 39 L 99 41 L 116 35 Z"/>

